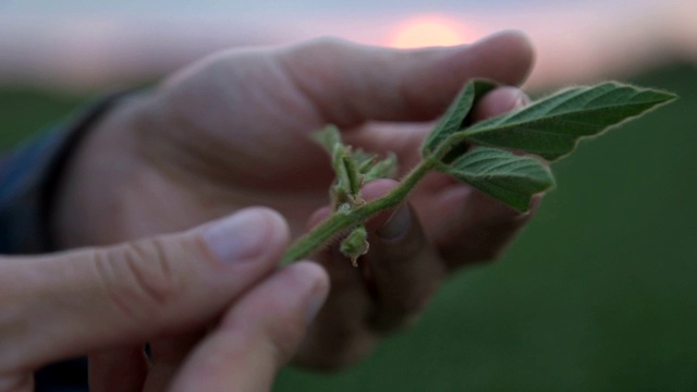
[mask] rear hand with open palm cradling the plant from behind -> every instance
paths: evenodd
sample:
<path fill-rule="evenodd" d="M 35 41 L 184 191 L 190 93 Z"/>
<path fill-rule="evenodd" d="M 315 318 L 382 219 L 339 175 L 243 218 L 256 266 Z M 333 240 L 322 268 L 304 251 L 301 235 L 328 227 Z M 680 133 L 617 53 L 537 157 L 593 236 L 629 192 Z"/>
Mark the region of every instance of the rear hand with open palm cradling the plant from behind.
<path fill-rule="evenodd" d="M 321 216 L 333 175 L 310 132 L 337 124 L 348 144 L 393 150 L 407 170 L 428 122 L 467 79 L 518 84 L 531 57 L 528 41 L 511 33 L 453 48 L 316 40 L 219 53 L 105 119 L 65 171 L 54 233 L 64 247 L 109 244 L 262 205 L 279 210 L 295 237 Z M 503 87 L 475 117 L 524 100 Z M 426 179 L 411 207 L 379 230 L 384 218 L 374 223 L 362 269 L 330 252 L 316 256 L 334 290 L 297 360 L 335 368 L 365 356 L 419 313 L 447 271 L 494 257 L 528 218 L 444 176 Z"/>

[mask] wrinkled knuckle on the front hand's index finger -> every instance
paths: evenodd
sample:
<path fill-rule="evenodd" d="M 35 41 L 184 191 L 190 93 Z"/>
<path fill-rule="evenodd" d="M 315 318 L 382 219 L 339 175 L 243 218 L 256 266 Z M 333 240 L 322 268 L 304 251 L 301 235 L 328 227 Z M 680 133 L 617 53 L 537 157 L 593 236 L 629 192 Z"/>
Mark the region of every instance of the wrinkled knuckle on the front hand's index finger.
<path fill-rule="evenodd" d="M 97 273 L 111 303 L 135 322 L 164 311 L 181 297 L 183 281 L 170 262 L 158 240 L 98 250 L 96 256 Z"/>

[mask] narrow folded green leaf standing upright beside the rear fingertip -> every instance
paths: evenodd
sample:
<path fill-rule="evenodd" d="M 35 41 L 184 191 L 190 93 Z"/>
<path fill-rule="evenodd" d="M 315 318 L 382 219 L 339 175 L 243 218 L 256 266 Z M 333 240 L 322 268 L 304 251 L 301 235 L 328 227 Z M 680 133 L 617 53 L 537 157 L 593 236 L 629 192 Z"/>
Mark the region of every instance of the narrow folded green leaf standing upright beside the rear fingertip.
<path fill-rule="evenodd" d="M 429 157 L 450 135 L 461 131 L 474 105 L 497 86 L 496 83 L 486 79 L 469 81 L 426 138 L 421 156 Z"/>

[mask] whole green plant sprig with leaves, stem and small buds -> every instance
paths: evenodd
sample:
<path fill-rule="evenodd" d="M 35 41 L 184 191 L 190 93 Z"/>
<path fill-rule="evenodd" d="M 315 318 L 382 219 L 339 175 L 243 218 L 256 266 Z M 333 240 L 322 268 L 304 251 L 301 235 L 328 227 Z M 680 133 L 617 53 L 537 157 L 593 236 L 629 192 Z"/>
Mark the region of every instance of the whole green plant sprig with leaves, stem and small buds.
<path fill-rule="evenodd" d="M 576 148 L 578 140 L 596 136 L 675 95 L 616 82 L 573 87 L 525 108 L 472 124 L 476 102 L 497 84 L 474 79 L 455 98 L 421 147 L 423 160 L 389 194 L 366 203 L 363 185 L 396 173 L 396 158 L 384 159 L 345 146 L 334 126 L 316 139 L 331 154 L 337 180 L 331 186 L 332 215 L 298 238 L 283 262 L 298 260 L 344 236 L 340 250 L 357 266 L 368 252 L 365 222 L 376 213 L 399 206 L 414 186 L 432 170 L 450 174 L 472 187 L 527 212 L 534 195 L 554 187 L 546 162 L 554 162 Z"/>

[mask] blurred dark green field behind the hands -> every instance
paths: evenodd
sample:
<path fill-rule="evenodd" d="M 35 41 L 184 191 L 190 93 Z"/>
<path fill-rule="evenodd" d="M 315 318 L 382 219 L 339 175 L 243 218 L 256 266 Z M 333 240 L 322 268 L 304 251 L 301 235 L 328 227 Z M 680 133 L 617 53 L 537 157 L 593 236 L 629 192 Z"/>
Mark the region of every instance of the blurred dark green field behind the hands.
<path fill-rule="evenodd" d="M 633 82 L 681 99 L 557 163 L 499 262 L 461 271 L 415 327 L 276 391 L 697 391 L 697 69 Z M 0 146 L 93 97 L 0 89 Z"/>

